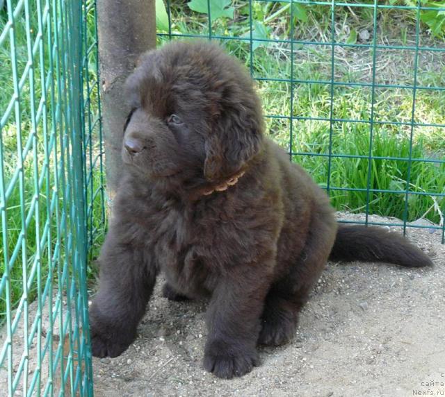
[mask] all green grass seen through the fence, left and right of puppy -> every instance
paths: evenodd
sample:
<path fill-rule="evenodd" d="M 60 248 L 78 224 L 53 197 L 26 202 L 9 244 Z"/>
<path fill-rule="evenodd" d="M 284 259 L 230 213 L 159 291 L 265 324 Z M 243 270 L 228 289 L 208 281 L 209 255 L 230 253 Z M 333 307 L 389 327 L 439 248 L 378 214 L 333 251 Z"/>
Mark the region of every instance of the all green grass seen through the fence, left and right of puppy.
<path fill-rule="evenodd" d="M 206 34 L 208 29 L 207 15 L 194 12 L 186 2 L 172 2 L 172 33 Z M 350 3 L 353 3 L 352 1 Z M 369 1 L 367 2 L 369 3 Z M 372 2 L 371 2 L 372 3 Z M 236 0 L 234 17 L 221 17 L 212 24 L 213 35 L 234 37 L 249 36 L 249 6 L 246 1 Z M 26 21 L 21 15 L 16 23 L 15 35 L 17 45 L 17 61 L 19 74 L 22 74 L 27 62 L 28 40 L 35 40 L 37 13 L 31 5 L 30 33 L 26 29 Z M 303 11 L 302 11 L 303 10 Z M 332 26 L 337 42 L 349 44 L 371 44 L 373 40 L 373 10 L 354 7 L 336 8 L 334 25 L 329 6 L 304 6 L 292 12 L 294 28 L 291 29 L 291 12 L 289 3 L 252 2 L 252 19 L 254 37 L 265 40 L 289 40 L 292 37 L 302 42 L 331 41 Z M 378 44 L 414 46 L 416 37 L 415 14 L 412 10 L 379 10 L 376 41 Z M 6 11 L 0 10 L 0 31 L 6 24 Z M 95 35 L 94 15 L 88 16 L 88 37 Z M 28 33 L 27 33 L 28 32 Z M 204 32 L 204 33 L 203 33 Z M 426 24 L 421 24 L 420 44 L 423 47 L 445 47 L 443 34 L 432 35 Z M 247 36 L 246 36 L 247 35 Z M 159 43 L 167 37 L 159 37 Z M 316 182 L 322 186 L 329 180 L 330 196 L 333 205 L 339 210 L 350 212 L 365 212 L 366 192 L 364 189 L 389 190 L 391 192 L 371 192 L 369 196 L 369 212 L 384 216 L 403 219 L 405 215 L 405 194 L 408 189 L 407 220 L 413 221 L 425 217 L 432 222 L 443 222 L 445 211 L 445 128 L 438 126 L 423 126 L 422 124 L 445 124 L 445 91 L 417 90 L 416 92 L 416 123 L 420 124 L 413 130 L 409 125 L 394 123 L 409 123 L 412 119 L 412 90 L 414 51 L 397 49 L 379 49 L 373 63 L 373 51 L 369 47 L 335 47 L 334 50 L 334 81 L 344 83 L 370 84 L 373 81 L 372 69 L 375 67 L 375 83 L 382 85 L 398 85 L 402 87 L 371 87 L 359 85 L 335 85 L 332 96 L 331 115 L 331 56 L 332 47 L 328 44 L 289 44 L 289 42 L 257 42 L 253 46 L 252 64 L 250 63 L 250 44 L 241 40 L 220 40 L 235 56 L 240 58 L 247 67 L 252 68 L 252 76 L 257 80 L 258 92 L 264 103 L 264 112 L 268 125 L 268 134 L 287 151 L 294 153 L 292 160 L 300 162 Z M 91 41 L 89 42 L 91 44 Z M 43 70 L 49 70 L 49 48 L 45 46 Z M 293 51 L 291 51 L 293 49 Z M 91 84 L 97 80 L 95 69 L 96 53 L 88 53 L 88 81 Z M 293 59 L 293 65 L 291 60 Z M 36 60 L 37 61 L 37 60 Z M 11 78 L 10 43 L 8 39 L 0 45 L 0 114 L 6 110 L 13 94 L 13 79 Z M 292 65 L 292 67 L 291 67 Z M 298 81 L 320 81 L 320 83 L 294 83 L 291 85 L 291 68 L 293 77 Z M 37 69 L 38 70 L 38 69 Z M 22 144 L 30 137 L 32 130 L 31 101 L 36 104 L 42 96 L 40 74 L 35 74 L 35 88 L 27 81 L 21 97 L 21 130 Z M 275 79 L 282 79 L 276 81 Z M 423 87 L 445 87 L 445 59 L 443 53 L 437 51 L 421 51 L 419 53 L 417 82 Z M 372 104 L 372 97 L 374 102 Z M 56 101 L 58 96 L 55 96 Z M 95 115 L 97 113 L 97 93 L 93 91 L 90 98 L 91 108 L 86 109 Z M 47 103 L 51 108 L 51 103 Z M 373 115 L 372 142 L 371 111 Z M 293 117 L 292 121 L 290 116 Z M 307 119 L 307 118 L 314 119 Z M 42 186 L 39 189 L 38 205 L 31 211 L 30 223 L 26 228 L 24 246 L 19 246 L 18 257 L 11 269 L 11 301 L 13 306 L 21 298 L 23 278 L 30 277 L 33 269 L 35 253 L 44 230 L 44 223 L 50 219 L 51 233 L 47 244 L 42 247 L 40 260 L 41 278 L 56 275 L 56 264 L 51 259 L 56 242 L 67 244 L 66 239 L 57 239 L 58 221 L 60 216 L 70 208 L 64 208 L 58 199 L 52 211 L 49 211 L 52 189 L 56 185 L 55 169 L 63 155 L 67 166 L 70 164 L 70 153 L 60 148 L 60 137 L 63 137 L 61 124 L 47 114 L 49 126 L 55 126 L 51 133 L 44 133 L 44 118 L 40 118 L 35 140 L 31 151 L 24 159 L 23 187 L 19 183 L 6 203 L 7 230 L 2 230 L 8 237 L 6 247 L 9 255 L 13 253 L 19 234 L 22 230 L 22 214 L 28 214 L 35 196 L 35 176 L 44 174 Z M 353 121 L 359 122 L 353 122 Z M 86 117 L 88 121 L 88 117 Z M 96 126 L 97 128 L 97 126 Z M 290 145 L 292 130 L 292 144 Z M 50 130 L 51 131 L 51 130 Z M 87 127 L 88 131 L 88 127 Z M 56 134 L 58 144 L 45 155 L 46 144 L 51 140 L 51 134 Z M 13 116 L 1 126 L 3 172 L 6 181 L 13 176 L 17 168 L 17 125 Z M 96 137 L 88 142 L 86 175 L 92 160 L 99 155 Z M 32 137 L 31 137 L 32 138 Z M 88 140 L 86 140 L 87 142 Z M 369 145 L 372 143 L 371 164 L 369 160 Z M 327 155 L 332 154 L 329 167 Z M 346 155 L 346 157 L 338 157 Z M 359 156 L 359 157 L 353 157 Z M 45 165 L 45 158 L 49 161 Z M 423 159 L 430 161 L 408 161 L 400 159 Z M 437 162 L 437 160 L 439 162 Z M 442 161 L 442 162 L 440 162 Z M 408 180 L 408 174 L 410 178 Z M 369 175 L 369 178 L 368 178 Z M 60 185 L 59 185 L 60 187 Z M 92 187 L 92 189 L 91 189 Z M 104 203 L 101 189 L 102 176 L 95 169 L 90 177 L 90 188 L 87 189 L 90 214 L 88 228 L 94 230 L 88 237 L 92 251 L 90 260 L 97 255 L 102 244 L 104 230 Z M 336 189 L 337 188 L 337 189 Z M 99 189 L 99 190 L 97 190 Z M 345 190 L 346 189 L 346 190 Z M 348 190 L 350 189 L 350 190 Z M 395 192 L 394 192 L 395 191 Z M 21 196 L 21 192 L 23 192 Z M 98 192 L 95 196 L 95 192 Z M 442 196 L 435 195 L 442 194 Z M 94 199 L 93 199 L 94 196 Z M 21 198 L 22 197 L 22 198 Z M 36 222 L 38 219 L 38 222 Z M 1 248 L 3 249 L 3 248 Z M 70 250 L 60 247 L 63 252 L 59 261 L 63 263 L 70 257 Z M 22 254 L 26 253 L 23 257 Z M 3 257 L 3 251 L 0 252 Z M 94 276 L 95 270 L 88 269 L 89 276 Z M 32 300 L 38 291 L 35 279 L 30 282 L 29 298 Z M 5 292 L 0 296 L 0 316 L 4 316 Z"/>

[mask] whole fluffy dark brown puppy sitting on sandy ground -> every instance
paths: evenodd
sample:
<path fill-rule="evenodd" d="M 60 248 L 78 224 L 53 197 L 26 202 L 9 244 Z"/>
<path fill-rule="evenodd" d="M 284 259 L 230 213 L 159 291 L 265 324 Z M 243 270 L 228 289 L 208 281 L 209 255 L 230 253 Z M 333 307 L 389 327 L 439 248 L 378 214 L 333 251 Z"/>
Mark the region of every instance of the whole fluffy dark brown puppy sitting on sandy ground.
<path fill-rule="evenodd" d="M 257 364 L 257 344 L 292 337 L 329 255 L 431 264 L 383 229 L 337 230 L 326 194 L 264 137 L 250 76 L 216 45 L 151 51 L 128 88 L 124 176 L 90 309 L 94 355 L 133 341 L 159 271 L 166 297 L 209 296 L 204 367 L 232 378 Z"/>

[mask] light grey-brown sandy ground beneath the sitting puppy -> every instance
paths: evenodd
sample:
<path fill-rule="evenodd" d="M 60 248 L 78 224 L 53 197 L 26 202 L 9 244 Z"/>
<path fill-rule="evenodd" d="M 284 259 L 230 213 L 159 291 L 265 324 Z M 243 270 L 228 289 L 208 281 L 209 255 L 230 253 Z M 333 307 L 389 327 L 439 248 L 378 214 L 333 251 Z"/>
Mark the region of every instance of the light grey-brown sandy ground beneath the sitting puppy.
<path fill-rule="evenodd" d="M 440 233 L 409 229 L 432 269 L 329 263 L 295 339 L 261 348 L 261 365 L 234 380 L 202 368 L 206 303 L 170 302 L 158 282 L 138 339 L 118 358 L 94 359 L 95 395 L 445 396 Z"/>

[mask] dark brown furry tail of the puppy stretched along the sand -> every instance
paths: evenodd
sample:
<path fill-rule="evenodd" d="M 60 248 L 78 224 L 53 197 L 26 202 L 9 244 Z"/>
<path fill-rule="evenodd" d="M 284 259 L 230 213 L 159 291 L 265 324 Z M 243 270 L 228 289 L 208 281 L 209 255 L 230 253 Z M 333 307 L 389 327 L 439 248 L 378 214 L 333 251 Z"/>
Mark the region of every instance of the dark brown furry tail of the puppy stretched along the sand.
<path fill-rule="evenodd" d="M 430 258 L 403 236 L 384 228 L 339 225 L 330 260 L 432 266 Z"/>

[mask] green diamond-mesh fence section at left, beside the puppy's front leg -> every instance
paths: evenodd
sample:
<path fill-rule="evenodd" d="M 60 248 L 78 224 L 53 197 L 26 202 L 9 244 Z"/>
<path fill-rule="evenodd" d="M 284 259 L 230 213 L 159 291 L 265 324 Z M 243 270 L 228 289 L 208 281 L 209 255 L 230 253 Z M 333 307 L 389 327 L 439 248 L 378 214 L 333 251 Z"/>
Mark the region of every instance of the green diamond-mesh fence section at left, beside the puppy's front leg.
<path fill-rule="evenodd" d="M 91 395 L 104 228 L 94 1 L 0 1 L 0 394 Z"/>

